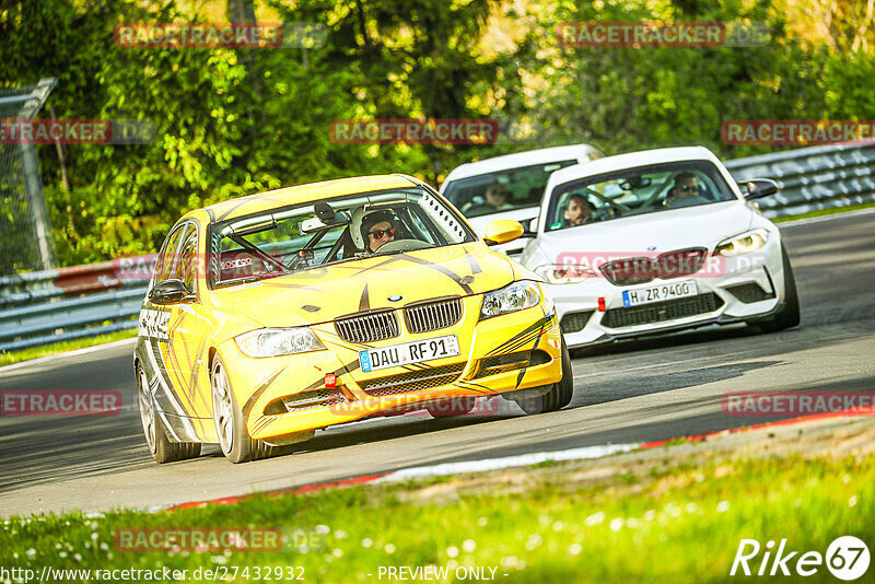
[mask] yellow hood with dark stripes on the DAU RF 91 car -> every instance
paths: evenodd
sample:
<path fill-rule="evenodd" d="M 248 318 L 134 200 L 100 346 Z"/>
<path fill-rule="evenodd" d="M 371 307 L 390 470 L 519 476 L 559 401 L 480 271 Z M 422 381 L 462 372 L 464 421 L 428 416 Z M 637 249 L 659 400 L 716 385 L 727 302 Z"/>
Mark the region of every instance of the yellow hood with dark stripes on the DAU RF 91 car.
<path fill-rule="evenodd" d="M 332 320 L 441 296 L 481 294 L 514 280 L 510 261 L 482 243 L 375 256 L 212 293 L 213 304 L 269 327 Z M 401 296 L 395 302 L 389 296 Z"/>

